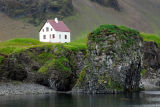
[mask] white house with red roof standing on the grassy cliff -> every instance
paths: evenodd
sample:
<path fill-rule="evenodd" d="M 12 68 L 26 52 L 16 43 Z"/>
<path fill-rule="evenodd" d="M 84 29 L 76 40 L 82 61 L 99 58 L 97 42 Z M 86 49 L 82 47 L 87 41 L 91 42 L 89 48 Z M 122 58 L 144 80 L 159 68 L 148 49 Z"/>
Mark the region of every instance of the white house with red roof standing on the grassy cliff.
<path fill-rule="evenodd" d="M 47 20 L 39 31 L 39 40 L 41 42 L 69 43 L 70 30 L 63 21 Z"/>

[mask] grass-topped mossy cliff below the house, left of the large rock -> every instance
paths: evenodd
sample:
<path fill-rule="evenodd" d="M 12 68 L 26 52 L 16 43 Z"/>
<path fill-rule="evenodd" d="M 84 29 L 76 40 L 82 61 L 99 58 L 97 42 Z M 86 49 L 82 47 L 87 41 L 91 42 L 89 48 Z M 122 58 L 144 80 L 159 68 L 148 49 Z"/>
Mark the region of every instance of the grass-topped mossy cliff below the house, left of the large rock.
<path fill-rule="evenodd" d="M 68 91 L 76 82 L 85 51 L 86 44 L 78 41 L 65 44 L 29 38 L 4 41 L 0 43 L 0 78 Z"/>

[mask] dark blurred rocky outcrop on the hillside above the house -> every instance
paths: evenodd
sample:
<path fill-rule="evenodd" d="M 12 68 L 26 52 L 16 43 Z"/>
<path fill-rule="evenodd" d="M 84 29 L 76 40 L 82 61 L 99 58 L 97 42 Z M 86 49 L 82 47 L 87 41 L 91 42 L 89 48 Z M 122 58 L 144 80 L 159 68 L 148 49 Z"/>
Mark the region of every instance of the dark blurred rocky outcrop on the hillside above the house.
<path fill-rule="evenodd" d="M 0 0 L 0 10 L 11 17 L 27 18 L 35 25 L 47 18 L 73 13 L 72 0 Z"/>

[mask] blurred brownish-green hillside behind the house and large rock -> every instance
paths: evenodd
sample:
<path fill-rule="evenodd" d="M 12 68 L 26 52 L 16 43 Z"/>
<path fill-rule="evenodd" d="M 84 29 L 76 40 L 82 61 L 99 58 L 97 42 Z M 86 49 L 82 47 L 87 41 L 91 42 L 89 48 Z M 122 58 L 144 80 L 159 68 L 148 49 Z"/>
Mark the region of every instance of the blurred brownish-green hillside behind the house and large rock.
<path fill-rule="evenodd" d="M 85 36 L 101 24 L 126 25 L 141 32 L 160 34 L 160 1 L 118 0 L 120 11 L 91 0 L 73 0 L 72 4 L 74 15 L 63 19 L 72 31 L 72 40 Z M 11 19 L 0 13 L 1 40 L 15 37 L 38 38 L 39 28 L 40 26 L 26 23 L 26 19 Z"/>

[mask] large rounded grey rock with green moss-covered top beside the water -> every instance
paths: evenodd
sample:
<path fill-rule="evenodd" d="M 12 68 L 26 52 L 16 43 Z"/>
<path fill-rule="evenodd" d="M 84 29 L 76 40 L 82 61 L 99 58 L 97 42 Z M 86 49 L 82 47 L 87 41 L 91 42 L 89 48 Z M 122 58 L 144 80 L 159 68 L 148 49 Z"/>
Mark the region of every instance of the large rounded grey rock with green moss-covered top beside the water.
<path fill-rule="evenodd" d="M 76 90 L 85 93 L 138 91 L 143 40 L 135 30 L 103 25 L 88 36 L 86 64 Z"/>

